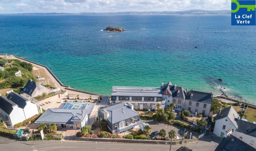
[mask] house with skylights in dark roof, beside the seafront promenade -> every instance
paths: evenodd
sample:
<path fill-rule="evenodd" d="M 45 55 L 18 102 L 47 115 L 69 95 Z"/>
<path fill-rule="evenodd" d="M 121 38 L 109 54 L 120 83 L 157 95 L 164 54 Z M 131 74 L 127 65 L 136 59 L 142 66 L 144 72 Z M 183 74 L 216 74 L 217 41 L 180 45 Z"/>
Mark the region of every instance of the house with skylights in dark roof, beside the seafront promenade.
<path fill-rule="evenodd" d="M 26 93 L 32 97 L 36 97 L 42 95 L 43 93 L 49 94 L 51 92 L 60 92 L 60 88 L 52 88 L 49 89 L 38 82 L 34 82 L 32 80 L 28 80 L 27 84 L 24 88 L 20 91 L 20 94 Z"/>

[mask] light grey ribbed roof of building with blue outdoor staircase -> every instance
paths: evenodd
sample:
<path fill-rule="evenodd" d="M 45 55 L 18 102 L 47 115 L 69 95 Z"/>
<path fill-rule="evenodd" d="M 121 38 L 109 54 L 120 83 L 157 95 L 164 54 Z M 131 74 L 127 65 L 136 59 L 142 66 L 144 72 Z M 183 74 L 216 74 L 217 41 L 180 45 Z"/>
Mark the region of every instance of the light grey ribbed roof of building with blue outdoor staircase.
<path fill-rule="evenodd" d="M 112 124 L 139 115 L 135 110 L 130 109 L 128 107 L 128 105 L 126 103 L 123 103 L 123 102 L 100 109 L 100 112 L 102 114 L 104 114 L 104 109 L 109 112 L 108 120 Z"/>

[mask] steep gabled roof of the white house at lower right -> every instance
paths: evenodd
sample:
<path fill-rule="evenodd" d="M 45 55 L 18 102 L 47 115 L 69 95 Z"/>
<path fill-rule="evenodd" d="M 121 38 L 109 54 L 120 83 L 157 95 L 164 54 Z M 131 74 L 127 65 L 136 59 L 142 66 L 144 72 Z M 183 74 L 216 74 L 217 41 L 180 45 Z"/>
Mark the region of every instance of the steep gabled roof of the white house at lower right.
<path fill-rule="evenodd" d="M 219 120 L 226 117 L 228 117 L 230 121 L 234 124 L 234 126 L 238 128 L 237 118 L 239 117 L 239 115 L 237 114 L 236 110 L 232 106 L 221 110 L 220 114 L 219 113 L 217 114 L 215 120 Z"/>

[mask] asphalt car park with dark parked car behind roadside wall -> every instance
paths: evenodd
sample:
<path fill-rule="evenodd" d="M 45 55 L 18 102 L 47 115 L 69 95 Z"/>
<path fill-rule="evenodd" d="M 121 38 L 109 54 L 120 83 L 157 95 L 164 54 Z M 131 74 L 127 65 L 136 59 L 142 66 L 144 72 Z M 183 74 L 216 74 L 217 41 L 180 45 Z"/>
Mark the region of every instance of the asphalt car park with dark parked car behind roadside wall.
<path fill-rule="evenodd" d="M 161 129 L 164 129 L 166 131 L 166 135 L 168 134 L 168 132 L 170 130 L 175 130 L 176 135 L 179 136 L 179 137 L 180 136 L 182 137 L 183 133 L 184 133 L 184 130 L 185 130 L 184 128 L 169 125 L 169 124 L 165 124 L 165 123 L 162 123 L 162 122 L 153 121 L 153 122 L 147 122 L 147 123 L 152 128 L 152 132 L 154 132 L 154 131 L 160 132 Z M 195 132 L 189 131 L 189 130 L 186 130 L 185 134 L 190 134 L 190 132 L 192 133 L 193 136 L 198 136 L 199 135 L 198 133 L 195 133 Z"/>

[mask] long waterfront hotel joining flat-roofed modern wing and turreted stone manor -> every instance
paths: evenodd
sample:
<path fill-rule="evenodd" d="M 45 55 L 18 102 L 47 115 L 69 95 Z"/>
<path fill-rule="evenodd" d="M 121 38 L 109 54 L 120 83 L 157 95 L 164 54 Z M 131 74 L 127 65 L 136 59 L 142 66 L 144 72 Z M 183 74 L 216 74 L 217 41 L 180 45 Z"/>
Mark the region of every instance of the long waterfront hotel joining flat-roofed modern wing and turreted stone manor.
<path fill-rule="evenodd" d="M 192 113 L 210 115 L 213 93 L 186 91 L 181 86 L 173 85 L 171 82 L 162 83 L 161 87 L 131 87 L 113 86 L 111 101 L 132 103 L 134 109 L 155 109 L 157 103 L 161 108 L 169 108 L 175 103 L 175 110 L 189 110 Z"/>

